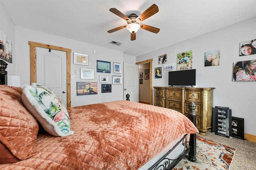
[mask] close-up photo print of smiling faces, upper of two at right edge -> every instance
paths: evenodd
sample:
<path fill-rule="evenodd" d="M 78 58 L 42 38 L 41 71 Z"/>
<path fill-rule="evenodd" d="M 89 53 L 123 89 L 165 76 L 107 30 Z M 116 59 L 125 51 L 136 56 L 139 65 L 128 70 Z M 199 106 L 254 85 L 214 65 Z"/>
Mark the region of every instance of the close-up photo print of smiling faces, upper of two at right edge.
<path fill-rule="evenodd" d="M 256 54 L 256 39 L 240 43 L 239 56 Z"/>

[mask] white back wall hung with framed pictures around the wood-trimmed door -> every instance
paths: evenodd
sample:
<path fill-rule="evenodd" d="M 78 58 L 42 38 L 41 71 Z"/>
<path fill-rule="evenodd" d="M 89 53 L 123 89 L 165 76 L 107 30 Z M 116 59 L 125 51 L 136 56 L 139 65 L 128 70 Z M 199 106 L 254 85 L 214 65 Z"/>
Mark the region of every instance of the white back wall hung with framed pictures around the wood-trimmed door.
<path fill-rule="evenodd" d="M 116 51 L 97 45 L 83 43 L 64 37 L 58 37 L 38 31 L 33 31 L 23 27 L 15 27 L 16 33 L 16 66 L 18 75 L 21 76 L 21 84 L 30 84 L 30 48 L 28 41 L 55 45 L 72 49 L 71 53 L 71 75 L 74 75 L 74 80 L 71 80 L 71 106 L 81 106 L 86 104 L 94 104 L 100 102 L 108 102 L 114 100 L 123 100 L 122 85 L 112 85 L 111 93 L 101 93 L 101 84 L 99 76 L 108 76 L 108 84 L 112 84 L 112 76 L 120 75 L 113 74 L 113 62 L 123 63 L 122 51 Z M 93 51 L 96 51 L 94 54 Z M 73 64 L 73 52 L 88 55 L 88 66 Z M 100 73 L 96 71 L 96 61 L 110 61 L 111 73 Z M 80 68 L 94 69 L 94 80 L 80 79 Z M 76 73 L 74 72 L 76 70 Z M 123 73 L 121 74 L 123 76 Z M 76 96 L 76 82 L 98 82 L 98 94 Z"/>

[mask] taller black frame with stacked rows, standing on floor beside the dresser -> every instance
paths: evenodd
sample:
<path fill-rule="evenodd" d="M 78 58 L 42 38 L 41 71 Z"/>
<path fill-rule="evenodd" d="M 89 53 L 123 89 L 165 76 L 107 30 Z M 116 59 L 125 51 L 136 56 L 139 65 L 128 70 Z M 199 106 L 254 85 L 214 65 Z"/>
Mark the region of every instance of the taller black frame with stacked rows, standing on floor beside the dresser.
<path fill-rule="evenodd" d="M 232 138 L 232 110 L 229 107 L 215 106 L 212 109 L 212 133 Z"/>

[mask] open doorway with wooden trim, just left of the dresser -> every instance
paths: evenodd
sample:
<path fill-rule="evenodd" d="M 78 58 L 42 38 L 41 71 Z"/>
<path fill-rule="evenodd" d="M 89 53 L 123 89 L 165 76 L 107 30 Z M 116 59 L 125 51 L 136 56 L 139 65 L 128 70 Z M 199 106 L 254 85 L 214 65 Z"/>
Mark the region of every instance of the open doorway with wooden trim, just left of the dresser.
<path fill-rule="evenodd" d="M 149 68 L 149 74 L 147 74 L 148 76 L 146 76 L 146 78 L 148 77 L 148 79 L 145 79 L 144 71 L 142 72 L 143 73 L 142 78 L 139 78 L 139 79 L 142 79 L 143 83 L 146 83 L 146 84 L 144 84 L 144 86 L 148 87 L 148 89 L 149 89 L 149 90 L 146 89 L 146 92 L 149 92 L 149 94 L 148 93 L 147 94 L 150 98 L 150 101 L 149 102 L 140 101 L 140 99 L 143 99 L 142 95 L 144 95 L 144 93 L 141 93 L 140 88 L 139 88 L 139 103 L 145 103 L 145 104 L 150 104 L 150 105 L 152 105 L 152 61 L 153 61 L 153 59 L 149 59 L 149 60 L 140 61 L 140 62 L 136 63 L 137 65 L 139 65 L 139 68 L 140 68 L 140 66 L 142 66 L 143 70 L 144 70 L 143 66 L 147 65 L 147 67 Z M 139 86 L 140 86 L 140 84 L 139 84 Z"/>

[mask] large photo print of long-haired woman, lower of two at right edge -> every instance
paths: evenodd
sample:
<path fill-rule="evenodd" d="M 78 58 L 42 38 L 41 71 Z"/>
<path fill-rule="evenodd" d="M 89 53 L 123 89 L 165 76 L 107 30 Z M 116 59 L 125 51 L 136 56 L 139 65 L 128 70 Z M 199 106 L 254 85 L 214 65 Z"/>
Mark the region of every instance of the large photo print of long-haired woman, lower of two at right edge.
<path fill-rule="evenodd" d="M 233 81 L 256 81 L 256 60 L 234 63 Z"/>

